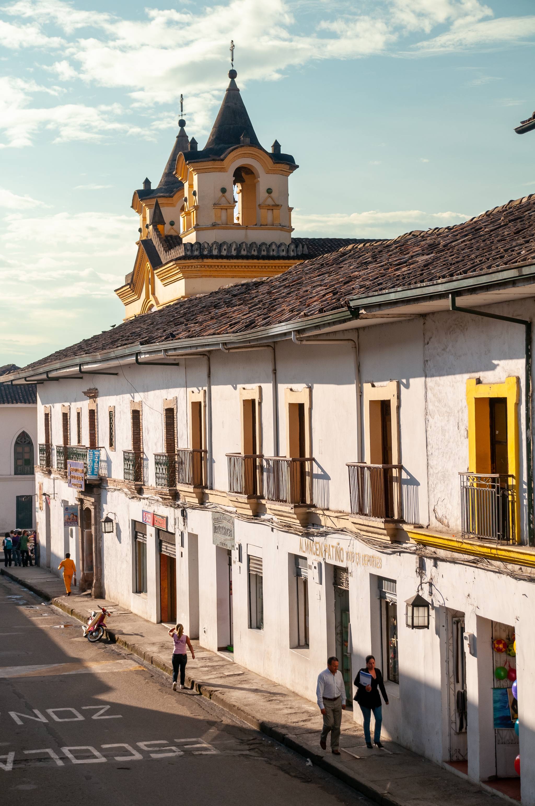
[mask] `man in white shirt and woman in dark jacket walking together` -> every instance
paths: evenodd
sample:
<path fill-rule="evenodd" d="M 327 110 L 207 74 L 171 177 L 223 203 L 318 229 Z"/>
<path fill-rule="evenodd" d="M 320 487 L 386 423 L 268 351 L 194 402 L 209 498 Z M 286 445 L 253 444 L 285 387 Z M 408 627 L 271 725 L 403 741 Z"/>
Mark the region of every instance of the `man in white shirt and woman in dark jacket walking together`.
<path fill-rule="evenodd" d="M 383 712 L 379 691 L 383 695 L 384 703 L 388 705 L 388 696 L 384 688 L 383 675 L 381 670 L 375 667 L 375 658 L 368 655 L 366 666 L 359 670 L 355 677 L 357 693 L 354 700 L 359 704 L 359 708 L 364 717 L 364 739 L 366 746 L 372 750 L 370 721 L 371 713 L 375 719 L 375 729 L 373 741 L 375 746 L 382 747 L 381 744 L 381 724 L 383 722 Z M 334 655 L 327 660 L 327 668 L 317 675 L 316 688 L 317 704 L 323 715 L 323 730 L 321 731 L 321 750 L 327 748 L 327 736 L 330 733 L 330 750 L 334 755 L 340 755 L 340 727 L 342 725 L 342 711 L 346 710 L 346 685 L 342 673 L 338 671 L 338 658 Z"/>

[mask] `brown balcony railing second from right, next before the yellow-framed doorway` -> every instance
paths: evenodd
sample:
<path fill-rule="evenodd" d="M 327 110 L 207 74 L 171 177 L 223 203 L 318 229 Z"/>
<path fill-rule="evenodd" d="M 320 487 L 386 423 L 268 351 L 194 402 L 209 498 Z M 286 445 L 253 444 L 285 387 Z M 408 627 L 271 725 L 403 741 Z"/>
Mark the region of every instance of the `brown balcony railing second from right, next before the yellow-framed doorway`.
<path fill-rule="evenodd" d="M 394 521 L 403 519 L 401 465 L 348 462 L 351 513 Z"/>

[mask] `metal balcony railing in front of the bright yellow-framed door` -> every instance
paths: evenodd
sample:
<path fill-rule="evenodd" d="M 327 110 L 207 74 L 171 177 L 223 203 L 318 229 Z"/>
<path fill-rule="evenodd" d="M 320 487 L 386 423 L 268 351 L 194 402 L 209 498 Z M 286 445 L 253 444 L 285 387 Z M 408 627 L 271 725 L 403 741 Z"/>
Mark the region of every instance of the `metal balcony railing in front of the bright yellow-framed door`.
<path fill-rule="evenodd" d="M 459 473 L 463 538 L 516 542 L 514 476 Z"/>

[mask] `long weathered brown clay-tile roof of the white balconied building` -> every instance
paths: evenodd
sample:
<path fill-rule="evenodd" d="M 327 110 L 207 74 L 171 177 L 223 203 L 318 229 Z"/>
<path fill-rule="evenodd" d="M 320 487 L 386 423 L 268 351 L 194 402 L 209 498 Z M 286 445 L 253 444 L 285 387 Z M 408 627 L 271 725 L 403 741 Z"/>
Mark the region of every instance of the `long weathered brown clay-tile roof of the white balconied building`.
<path fill-rule="evenodd" d="M 27 370 L 135 343 L 247 333 L 340 310 L 350 296 L 477 276 L 529 260 L 535 260 L 535 195 L 456 226 L 351 243 L 279 276 L 180 300 L 48 355 Z"/>

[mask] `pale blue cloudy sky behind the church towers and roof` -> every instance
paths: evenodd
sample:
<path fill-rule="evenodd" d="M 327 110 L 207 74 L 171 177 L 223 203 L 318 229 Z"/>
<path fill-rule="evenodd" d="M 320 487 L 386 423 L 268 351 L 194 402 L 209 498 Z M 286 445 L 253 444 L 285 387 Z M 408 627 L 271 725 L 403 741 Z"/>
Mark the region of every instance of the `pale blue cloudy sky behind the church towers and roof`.
<path fill-rule="evenodd" d="M 2 2 L 2 0 L 0 0 Z M 132 193 L 228 83 L 300 169 L 296 235 L 395 236 L 535 191 L 533 0 L 15 0 L 0 6 L 0 364 L 122 319 Z"/>

